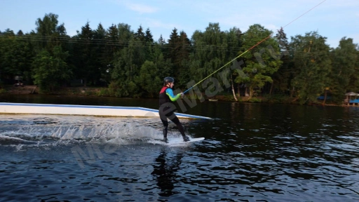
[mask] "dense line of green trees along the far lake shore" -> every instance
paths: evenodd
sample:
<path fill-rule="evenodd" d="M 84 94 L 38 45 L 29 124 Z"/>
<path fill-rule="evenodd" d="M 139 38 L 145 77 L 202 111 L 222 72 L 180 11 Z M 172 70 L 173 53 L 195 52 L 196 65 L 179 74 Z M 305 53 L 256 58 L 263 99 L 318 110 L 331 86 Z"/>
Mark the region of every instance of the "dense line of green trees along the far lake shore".
<path fill-rule="evenodd" d="M 53 13 L 38 18 L 36 29 L 26 34 L 0 31 L 1 82 L 22 76 L 51 93 L 81 79 L 83 86 L 107 86 L 102 95 L 157 97 L 165 76 L 175 78 L 176 88 L 187 89 L 189 81 L 201 81 L 227 64 L 198 88 L 215 83 L 209 90 L 222 88 L 248 99 L 285 95 L 302 104 L 327 93 L 341 102 L 344 93 L 359 90 L 359 46 L 351 38 L 330 48 L 318 32 L 288 41 L 283 29 L 273 33 L 255 24 L 246 32 L 237 27 L 224 31 L 219 23 L 209 23 L 190 38 L 174 28 L 166 41 L 163 36 L 154 40 L 142 26 L 137 31 L 124 23 L 92 29 L 88 22 L 69 36 L 57 18 Z"/>

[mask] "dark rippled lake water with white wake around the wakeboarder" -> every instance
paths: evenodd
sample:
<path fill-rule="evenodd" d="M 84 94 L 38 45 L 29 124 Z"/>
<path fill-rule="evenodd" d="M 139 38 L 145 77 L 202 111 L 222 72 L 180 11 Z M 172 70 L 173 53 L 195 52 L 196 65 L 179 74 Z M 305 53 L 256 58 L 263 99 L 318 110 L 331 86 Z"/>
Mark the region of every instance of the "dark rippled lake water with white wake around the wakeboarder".
<path fill-rule="evenodd" d="M 2 96 L 136 106 L 157 100 Z M 0 114 L 0 201 L 359 201 L 359 107 L 197 102 L 184 147 L 161 121 Z M 170 123 L 170 138 L 180 138 Z"/>

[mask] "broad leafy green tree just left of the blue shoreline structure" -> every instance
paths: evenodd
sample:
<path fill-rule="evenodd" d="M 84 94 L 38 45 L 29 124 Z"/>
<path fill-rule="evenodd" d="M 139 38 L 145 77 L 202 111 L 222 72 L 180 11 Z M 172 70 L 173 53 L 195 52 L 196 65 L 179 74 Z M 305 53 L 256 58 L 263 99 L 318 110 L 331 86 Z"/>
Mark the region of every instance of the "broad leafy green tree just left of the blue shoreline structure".
<path fill-rule="evenodd" d="M 300 69 L 292 79 L 292 86 L 296 89 L 295 96 L 300 104 L 315 101 L 329 83 L 328 75 L 332 66 L 330 48 L 325 40 L 317 32 L 292 38 L 290 46 L 296 50 L 293 55 L 294 67 Z"/>

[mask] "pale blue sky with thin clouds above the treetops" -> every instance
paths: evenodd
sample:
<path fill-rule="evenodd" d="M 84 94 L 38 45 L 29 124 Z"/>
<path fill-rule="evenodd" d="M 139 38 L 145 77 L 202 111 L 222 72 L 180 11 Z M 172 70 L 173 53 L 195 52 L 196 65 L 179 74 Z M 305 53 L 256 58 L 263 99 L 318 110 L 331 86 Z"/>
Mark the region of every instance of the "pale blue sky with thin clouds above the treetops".
<path fill-rule="evenodd" d="M 0 0 L 0 5 L 1 32 L 31 32 L 36 19 L 54 13 L 69 36 L 86 22 L 91 29 L 99 23 L 105 29 L 125 23 L 133 31 L 149 28 L 157 41 L 161 35 L 168 40 L 174 28 L 191 38 L 209 23 L 219 23 L 222 31 L 237 27 L 242 32 L 260 24 L 274 35 L 284 27 L 288 41 L 291 36 L 318 32 L 332 48 L 344 36 L 359 43 L 359 0 Z"/>

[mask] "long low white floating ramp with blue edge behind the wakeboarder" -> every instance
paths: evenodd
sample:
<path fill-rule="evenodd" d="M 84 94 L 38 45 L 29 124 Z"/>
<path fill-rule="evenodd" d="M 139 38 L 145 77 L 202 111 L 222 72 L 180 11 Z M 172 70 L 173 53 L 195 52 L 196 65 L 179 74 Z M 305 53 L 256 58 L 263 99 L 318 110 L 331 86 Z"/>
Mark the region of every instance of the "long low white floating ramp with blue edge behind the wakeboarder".
<path fill-rule="evenodd" d="M 158 109 L 93 105 L 51 105 L 0 102 L 0 114 L 57 114 L 83 116 L 159 117 Z M 175 113 L 179 119 L 210 119 L 205 116 Z"/>

